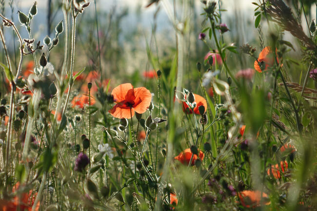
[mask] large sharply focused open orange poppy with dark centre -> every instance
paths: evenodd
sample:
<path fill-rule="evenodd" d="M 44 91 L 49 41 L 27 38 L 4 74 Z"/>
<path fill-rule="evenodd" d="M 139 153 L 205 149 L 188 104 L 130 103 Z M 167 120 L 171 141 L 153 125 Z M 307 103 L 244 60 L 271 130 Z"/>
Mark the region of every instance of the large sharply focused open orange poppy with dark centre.
<path fill-rule="evenodd" d="M 131 118 L 134 112 L 143 114 L 150 106 L 152 95 L 145 87 L 133 88 L 131 83 L 120 84 L 111 95 L 117 103 L 109 113 L 116 118 Z M 130 114 L 131 109 L 131 114 Z"/>

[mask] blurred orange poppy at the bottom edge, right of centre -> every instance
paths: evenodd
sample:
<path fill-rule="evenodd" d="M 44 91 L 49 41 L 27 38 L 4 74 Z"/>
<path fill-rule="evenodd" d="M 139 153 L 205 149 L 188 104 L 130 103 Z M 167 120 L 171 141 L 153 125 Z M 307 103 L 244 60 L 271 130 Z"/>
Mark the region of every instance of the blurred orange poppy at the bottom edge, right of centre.
<path fill-rule="evenodd" d="M 262 205 L 269 205 L 269 198 L 266 193 L 260 191 L 238 192 L 243 207 L 255 208 Z"/>

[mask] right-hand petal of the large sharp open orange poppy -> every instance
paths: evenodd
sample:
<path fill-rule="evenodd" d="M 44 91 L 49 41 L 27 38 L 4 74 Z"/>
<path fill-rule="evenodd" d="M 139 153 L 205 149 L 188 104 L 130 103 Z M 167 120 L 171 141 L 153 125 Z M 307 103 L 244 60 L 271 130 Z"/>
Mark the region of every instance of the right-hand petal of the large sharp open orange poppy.
<path fill-rule="evenodd" d="M 143 114 L 146 109 L 149 108 L 152 95 L 148 89 L 145 87 L 139 87 L 134 89 L 135 94 L 135 106 L 133 106 L 133 110 L 138 112 L 139 114 Z"/>

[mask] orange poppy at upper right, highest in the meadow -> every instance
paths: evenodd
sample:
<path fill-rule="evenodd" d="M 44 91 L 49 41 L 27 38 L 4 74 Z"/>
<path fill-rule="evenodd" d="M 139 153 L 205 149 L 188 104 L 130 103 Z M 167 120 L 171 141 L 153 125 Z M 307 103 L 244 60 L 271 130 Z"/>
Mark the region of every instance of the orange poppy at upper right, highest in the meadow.
<path fill-rule="evenodd" d="M 277 49 L 276 49 L 277 50 Z M 262 69 L 267 70 L 268 67 L 272 66 L 274 64 L 274 53 L 271 50 L 271 47 L 265 47 L 261 53 L 258 55 L 258 60 L 254 62 L 254 68 L 261 73 L 261 67 L 263 66 Z M 278 58 L 277 58 L 278 62 Z"/>

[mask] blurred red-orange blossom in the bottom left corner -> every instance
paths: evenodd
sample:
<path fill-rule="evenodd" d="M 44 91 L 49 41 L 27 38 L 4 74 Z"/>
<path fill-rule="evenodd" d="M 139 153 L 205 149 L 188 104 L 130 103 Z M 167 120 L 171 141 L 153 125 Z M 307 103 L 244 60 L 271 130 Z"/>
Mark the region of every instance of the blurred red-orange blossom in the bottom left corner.
<path fill-rule="evenodd" d="M 12 192 L 16 192 L 19 189 L 20 183 L 17 182 L 13 187 Z M 31 211 L 34 204 L 35 198 L 38 193 L 33 193 L 32 190 L 29 192 L 21 193 L 16 195 L 13 200 L 0 199 L 0 210 L 1 211 Z M 40 202 L 36 205 L 35 211 L 40 208 Z"/>

